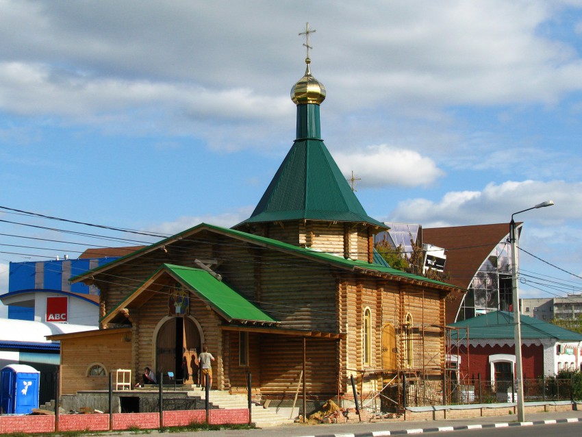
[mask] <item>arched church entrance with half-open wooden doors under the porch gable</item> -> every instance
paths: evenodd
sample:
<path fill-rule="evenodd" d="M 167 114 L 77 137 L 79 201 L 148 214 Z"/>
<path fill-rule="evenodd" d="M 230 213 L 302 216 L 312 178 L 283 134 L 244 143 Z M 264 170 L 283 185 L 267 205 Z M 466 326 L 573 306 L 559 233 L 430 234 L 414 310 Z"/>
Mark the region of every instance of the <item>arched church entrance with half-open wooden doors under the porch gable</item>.
<path fill-rule="evenodd" d="M 173 317 L 157 332 L 155 341 L 157 371 L 167 375 L 173 372 L 177 379 L 192 383 L 196 377 L 194 351 L 200 352 L 200 333 L 188 317 Z M 185 372 L 187 370 L 187 372 Z M 187 373 L 187 375 L 186 375 Z"/>

